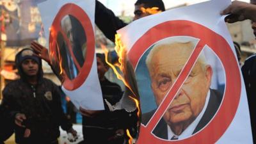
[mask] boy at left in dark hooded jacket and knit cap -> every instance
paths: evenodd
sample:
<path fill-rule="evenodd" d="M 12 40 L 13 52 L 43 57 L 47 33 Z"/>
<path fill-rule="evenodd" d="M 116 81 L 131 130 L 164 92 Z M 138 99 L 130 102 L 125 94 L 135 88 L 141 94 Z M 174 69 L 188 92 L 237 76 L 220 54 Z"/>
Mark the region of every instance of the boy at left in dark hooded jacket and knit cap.
<path fill-rule="evenodd" d="M 60 126 L 76 136 L 61 108 L 58 86 L 43 77 L 41 59 L 27 48 L 16 55 L 15 64 L 20 79 L 6 85 L 2 106 L 15 122 L 16 143 L 58 143 Z"/>

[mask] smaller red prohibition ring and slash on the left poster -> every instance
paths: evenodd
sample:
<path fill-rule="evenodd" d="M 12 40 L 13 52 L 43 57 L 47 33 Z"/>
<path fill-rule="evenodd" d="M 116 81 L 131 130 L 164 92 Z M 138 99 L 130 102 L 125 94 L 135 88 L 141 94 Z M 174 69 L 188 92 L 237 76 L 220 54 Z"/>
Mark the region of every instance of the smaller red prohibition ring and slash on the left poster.
<path fill-rule="evenodd" d="M 72 52 L 72 46 L 70 44 L 70 41 L 68 40 L 67 35 L 65 35 L 63 29 L 61 28 L 61 20 L 66 15 L 72 15 L 73 17 L 75 17 L 79 22 L 81 22 L 81 25 L 83 26 L 83 29 L 84 29 L 84 34 L 87 40 L 86 40 L 86 56 L 85 56 L 84 64 L 82 67 L 79 66 L 76 60 L 76 57 Z M 67 51 L 70 52 L 70 55 L 72 56 L 74 63 L 79 70 L 79 74 L 74 79 L 69 79 L 66 75 L 65 81 L 63 82 L 63 86 L 67 90 L 76 90 L 77 88 L 79 88 L 79 86 L 81 86 L 81 84 L 84 83 L 84 81 L 88 77 L 90 70 L 92 68 L 94 52 L 95 52 L 95 38 L 93 33 L 93 26 L 90 21 L 90 18 L 82 8 L 80 8 L 76 4 L 68 3 L 61 7 L 60 11 L 57 13 L 56 17 L 52 22 L 50 36 L 49 36 L 50 52 L 61 51 L 58 48 L 58 44 L 57 44 L 58 33 L 62 34 L 64 41 L 68 45 Z M 58 60 L 58 58 L 55 58 L 55 60 Z"/>

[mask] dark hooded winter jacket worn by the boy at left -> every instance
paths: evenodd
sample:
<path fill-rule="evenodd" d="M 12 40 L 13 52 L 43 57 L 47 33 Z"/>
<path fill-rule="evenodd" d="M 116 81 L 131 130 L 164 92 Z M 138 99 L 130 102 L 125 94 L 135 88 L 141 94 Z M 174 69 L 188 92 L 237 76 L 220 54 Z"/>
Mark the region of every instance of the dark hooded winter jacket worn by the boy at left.
<path fill-rule="evenodd" d="M 7 84 L 3 90 L 3 107 L 14 122 L 17 113 L 23 113 L 22 123 L 31 130 L 29 138 L 24 138 L 26 128 L 15 125 L 16 143 L 51 143 L 60 136 L 60 125 L 65 131 L 72 127 L 61 108 L 60 90 L 49 79 L 43 78 L 42 62 L 38 64 L 38 82 L 32 85 L 26 81 L 21 61 L 17 54 L 16 67 L 20 79 Z"/>

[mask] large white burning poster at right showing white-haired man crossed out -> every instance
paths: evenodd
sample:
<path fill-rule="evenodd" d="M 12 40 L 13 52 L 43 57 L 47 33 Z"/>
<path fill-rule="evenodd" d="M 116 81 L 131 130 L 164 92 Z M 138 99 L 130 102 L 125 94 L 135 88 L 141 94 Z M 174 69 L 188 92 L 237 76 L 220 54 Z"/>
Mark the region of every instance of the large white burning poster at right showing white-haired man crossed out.
<path fill-rule="evenodd" d="M 120 29 L 140 93 L 137 143 L 252 143 L 243 77 L 220 12 L 168 10 Z"/>

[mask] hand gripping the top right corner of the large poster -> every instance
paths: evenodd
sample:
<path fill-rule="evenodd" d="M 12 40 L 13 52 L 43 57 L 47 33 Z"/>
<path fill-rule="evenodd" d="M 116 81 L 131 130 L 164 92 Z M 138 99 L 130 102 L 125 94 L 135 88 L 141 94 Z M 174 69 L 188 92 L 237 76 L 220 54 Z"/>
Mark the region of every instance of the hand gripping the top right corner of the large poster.
<path fill-rule="evenodd" d="M 233 23 L 237 21 L 242 21 L 246 19 L 256 20 L 256 6 L 250 3 L 245 3 L 241 1 L 233 1 L 230 6 L 223 10 L 221 15 L 228 15 L 225 18 L 226 22 Z"/>

